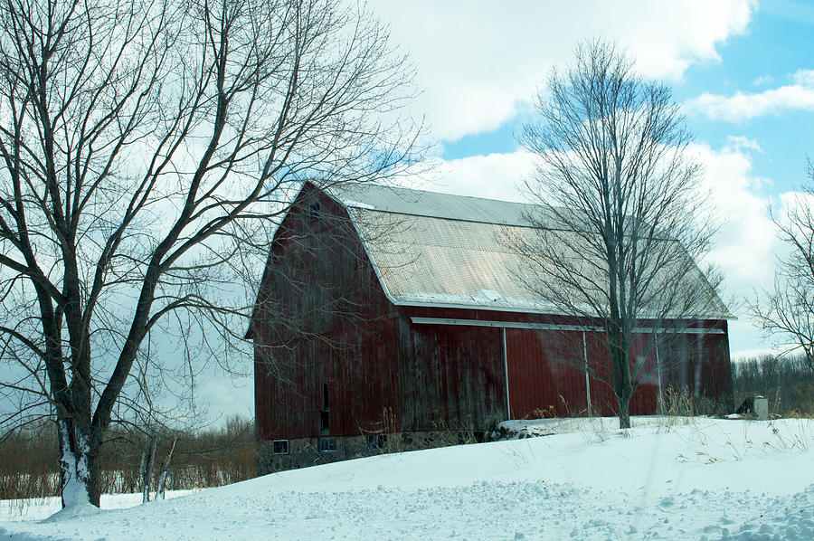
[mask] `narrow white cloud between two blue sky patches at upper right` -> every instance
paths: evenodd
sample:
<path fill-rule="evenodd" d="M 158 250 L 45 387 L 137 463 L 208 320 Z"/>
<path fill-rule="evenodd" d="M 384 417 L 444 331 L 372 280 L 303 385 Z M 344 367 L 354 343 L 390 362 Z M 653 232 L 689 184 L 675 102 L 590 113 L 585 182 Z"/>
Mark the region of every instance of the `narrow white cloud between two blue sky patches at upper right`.
<path fill-rule="evenodd" d="M 794 84 L 762 92 L 738 91 L 732 96 L 705 92 L 686 101 L 685 107 L 708 119 L 730 122 L 777 114 L 787 109 L 814 110 L 814 70 L 798 70 L 790 75 L 790 79 Z"/>

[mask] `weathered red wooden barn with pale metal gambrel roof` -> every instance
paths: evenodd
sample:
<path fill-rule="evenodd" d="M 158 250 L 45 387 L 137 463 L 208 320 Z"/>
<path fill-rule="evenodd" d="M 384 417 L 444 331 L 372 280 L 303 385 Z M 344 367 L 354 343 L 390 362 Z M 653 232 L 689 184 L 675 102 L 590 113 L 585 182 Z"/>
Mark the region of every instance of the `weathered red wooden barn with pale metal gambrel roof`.
<path fill-rule="evenodd" d="M 275 233 L 247 334 L 259 472 L 479 439 L 510 418 L 614 414 L 595 323 L 554 313 L 516 279 L 501 239 L 534 233 L 528 210 L 304 185 Z M 647 355 L 648 375 L 631 413 L 657 413 L 668 387 L 731 410 L 732 316 L 710 295 L 712 308 L 660 346 L 645 346 L 642 322 L 632 353 Z"/>

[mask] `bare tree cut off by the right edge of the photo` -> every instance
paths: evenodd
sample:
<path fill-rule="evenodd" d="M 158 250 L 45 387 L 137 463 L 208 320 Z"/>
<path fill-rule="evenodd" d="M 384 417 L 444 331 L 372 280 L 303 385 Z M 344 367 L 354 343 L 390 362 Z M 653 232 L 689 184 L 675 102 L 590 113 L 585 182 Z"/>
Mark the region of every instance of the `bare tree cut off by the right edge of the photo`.
<path fill-rule="evenodd" d="M 809 182 L 791 202 L 785 216 L 775 217 L 781 241 L 789 252 L 779 261 L 774 288 L 750 304 L 752 318 L 770 337 L 786 346 L 784 353 L 802 349 L 814 372 L 814 165 Z"/>

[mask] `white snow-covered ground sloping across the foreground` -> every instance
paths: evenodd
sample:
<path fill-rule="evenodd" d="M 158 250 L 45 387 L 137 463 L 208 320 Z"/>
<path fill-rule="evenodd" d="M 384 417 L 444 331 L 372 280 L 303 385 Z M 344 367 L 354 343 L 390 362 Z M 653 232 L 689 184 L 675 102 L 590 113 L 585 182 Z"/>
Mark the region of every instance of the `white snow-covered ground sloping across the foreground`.
<path fill-rule="evenodd" d="M 545 437 L 348 460 L 48 517 L 0 539 L 814 539 L 814 420 L 549 420 Z M 128 506 L 135 506 L 127 508 Z"/>

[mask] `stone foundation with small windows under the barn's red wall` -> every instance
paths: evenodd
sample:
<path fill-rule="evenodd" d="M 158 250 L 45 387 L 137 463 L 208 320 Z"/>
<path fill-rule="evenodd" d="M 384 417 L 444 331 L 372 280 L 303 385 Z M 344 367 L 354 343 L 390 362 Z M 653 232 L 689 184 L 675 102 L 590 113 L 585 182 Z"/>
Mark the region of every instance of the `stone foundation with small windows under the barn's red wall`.
<path fill-rule="evenodd" d="M 319 451 L 319 440 L 322 438 L 301 438 L 288 440 L 288 454 L 275 454 L 274 441 L 263 440 L 258 441 L 256 447 L 257 474 L 266 475 L 275 471 L 294 470 L 388 452 L 418 451 L 462 443 L 475 443 L 485 441 L 487 437 L 488 434 L 485 432 L 449 431 L 336 436 L 336 451 Z"/>

